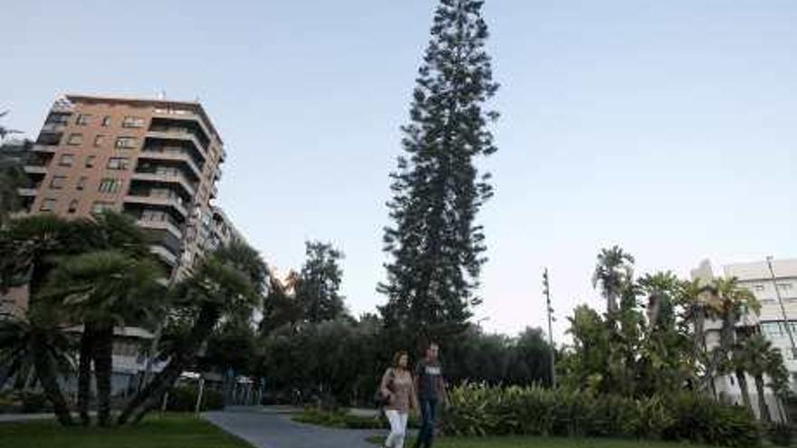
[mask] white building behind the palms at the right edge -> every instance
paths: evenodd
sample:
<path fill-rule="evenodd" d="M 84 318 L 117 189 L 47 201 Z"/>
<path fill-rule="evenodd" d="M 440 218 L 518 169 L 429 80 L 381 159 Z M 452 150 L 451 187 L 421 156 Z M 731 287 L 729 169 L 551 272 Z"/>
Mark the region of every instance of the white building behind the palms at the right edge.
<path fill-rule="evenodd" d="M 739 319 L 737 329 L 752 328 L 760 326 L 764 337 L 768 338 L 774 348 L 778 348 L 783 353 L 783 362 L 789 370 L 791 386 L 797 390 L 797 359 L 792 351 L 792 340 L 789 337 L 784 321 L 789 322 L 792 335 L 797 339 L 797 260 L 773 260 L 772 271 L 770 263 L 762 260 L 760 262 L 744 262 L 727 264 L 723 266 L 723 276 L 736 277 L 739 284 L 751 292 L 761 303 L 761 311 L 758 315 L 747 314 Z M 700 267 L 692 271 L 692 278 L 710 281 L 714 277 L 711 265 L 702 262 Z M 778 300 L 776 290 L 780 292 L 781 300 Z M 783 303 L 783 308 L 781 304 Z M 784 317 L 785 312 L 785 317 Z M 715 347 L 719 344 L 719 330 L 721 323 L 718 321 L 706 322 L 706 346 Z M 753 378 L 747 378 L 748 387 L 754 384 Z M 715 379 L 716 390 L 719 394 L 726 396 L 730 401 L 741 404 L 741 391 L 736 384 L 734 376 L 717 377 Z M 754 402 L 754 412 L 758 413 L 755 405 L 758 397 L 754 387 L 750 387 L 750 397 Z M 767 389 L 769 391 L 769 389 Z M 773 418 L 779 419 L 781 415 L 780 406 L 773 396 L 766 397 Z"/>

